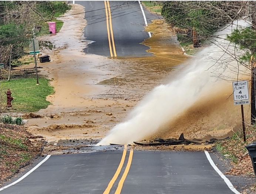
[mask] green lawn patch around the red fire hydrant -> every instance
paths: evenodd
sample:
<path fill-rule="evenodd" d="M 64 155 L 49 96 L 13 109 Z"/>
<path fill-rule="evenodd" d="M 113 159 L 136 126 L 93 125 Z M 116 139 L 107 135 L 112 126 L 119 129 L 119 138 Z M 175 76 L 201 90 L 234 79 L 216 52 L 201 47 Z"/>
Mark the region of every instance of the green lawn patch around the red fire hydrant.
<path fill-rule="evenodd" d="M 7 89 L 11 89 L 14 100 L 12 109 L 9 112 L 36 112 L 47 108 L 50 102 L 46 101 L 46 96 L 54 93 L 54 88 L 50 86 L 49 80 L 39 78 L 39 85 L 36 85 L 35 78 L 12 79 L 9 82 L 0 82 L 0 107 L 6 106 Z"/>

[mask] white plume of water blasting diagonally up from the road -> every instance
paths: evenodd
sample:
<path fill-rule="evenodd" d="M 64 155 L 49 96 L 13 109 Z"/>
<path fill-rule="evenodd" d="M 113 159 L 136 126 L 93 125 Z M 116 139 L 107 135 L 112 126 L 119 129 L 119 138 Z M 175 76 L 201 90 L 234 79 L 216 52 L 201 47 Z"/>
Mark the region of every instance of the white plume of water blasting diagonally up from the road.
<path fill-rule="evenodd" d="M 216 34 L 218 41 L 212 40 L 214 44 L 199 52 L 175 80 L 154 88 L 130 113 L 128 120 L 113 127 L 97 145 L 130 144 L 142 140 L 177 118 L 202 96 L 220 92 L 221 85 L 226 83 L 224 79 L 238 79 L 246 68 L 239 69 L 232 54 L 242 53 L 225 38 L 232 29 L 247 27 L 249 24 L 244 20 L 234 24 Z M 216 79 L 217 75 L 221 79 Z"/>

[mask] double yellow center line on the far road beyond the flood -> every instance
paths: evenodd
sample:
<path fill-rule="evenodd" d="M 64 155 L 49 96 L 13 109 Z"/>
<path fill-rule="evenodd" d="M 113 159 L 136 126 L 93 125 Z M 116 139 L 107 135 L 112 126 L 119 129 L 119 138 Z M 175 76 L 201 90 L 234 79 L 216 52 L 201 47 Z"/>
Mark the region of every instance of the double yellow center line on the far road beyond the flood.
<path fill-rule="evenodd" d="M 106 21 L 107 21 L 107 32 L 108 32 L 108 44 L 110 46 L 110 56 L 117 57 L 117 52 L 115 51 L 115 42 L 114 35 L 112 29 L 112 18 L 111 18 L 111 10 L 110 10 L 110 2 L 104 1 L 105 3 L 105 11 L 106 11 Z M 113 55 L 114 53 L 114 55 Z"/>

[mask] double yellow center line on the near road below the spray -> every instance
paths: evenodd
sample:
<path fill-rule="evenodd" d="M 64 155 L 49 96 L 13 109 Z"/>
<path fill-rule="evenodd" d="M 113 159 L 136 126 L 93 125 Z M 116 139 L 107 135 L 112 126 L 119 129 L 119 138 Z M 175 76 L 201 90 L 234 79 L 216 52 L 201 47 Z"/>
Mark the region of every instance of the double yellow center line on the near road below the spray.
<path fill-rule="evenodd" d="M 120 164 L 117 168 L 117 171 L 115 172 L 113 178 L 111 179 L 110 183 L 108 184 L 108 187 L 106 188 L 106 190 L 104 191 L 103 194 L 109 194 L 110 193 L 110 190 L 111 190 L 112 186 L 114 185 L 115 181 L 117 180 L 118 175 L 121 172 L 122 167 L 124 166 L 126 153 L 127 153 L 127 145 L 124 146 L 124 151 L 123 151 L 123 154 L 122 154 Z M 115 194 L 120 194 L 121 193 L 125 178 L 127 177 L 127 174 L 128 174 L 128 172 L 130 170 L 130 167 L 131 167 L 132 156 L 133 156 L 133 149 L 130 150 L 127 166 L 125 167 L 124 174 L 122 175 L 122 177 L 121 177 L 121 179 L 118 183 L 118 187 L 117 187 L 117 190 L 115 191 Z"/>

